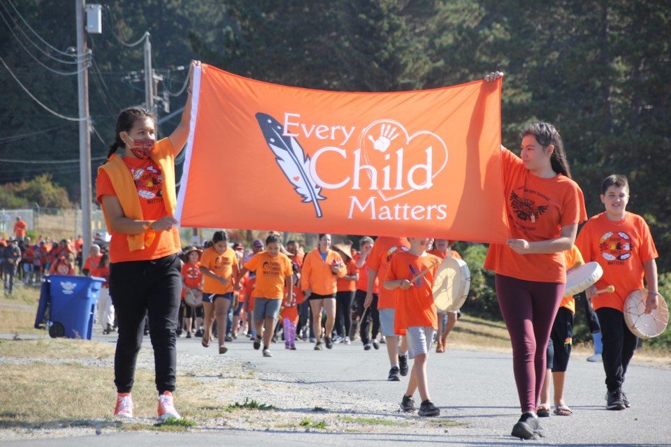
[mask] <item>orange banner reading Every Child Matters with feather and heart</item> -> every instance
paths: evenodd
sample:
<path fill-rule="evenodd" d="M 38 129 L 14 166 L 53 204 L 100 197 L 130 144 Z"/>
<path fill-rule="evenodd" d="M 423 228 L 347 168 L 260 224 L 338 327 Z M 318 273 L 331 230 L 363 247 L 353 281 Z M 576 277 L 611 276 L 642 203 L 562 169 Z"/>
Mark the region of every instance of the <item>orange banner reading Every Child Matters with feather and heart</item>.
<path fill-rule="evenodd" d="M 507 239 L 501 82 L 348 93 L 203 64 L 180 182 L 182 226 Z"/>

